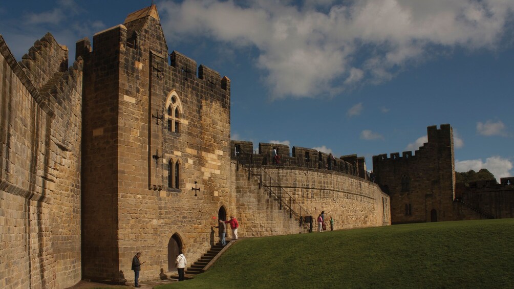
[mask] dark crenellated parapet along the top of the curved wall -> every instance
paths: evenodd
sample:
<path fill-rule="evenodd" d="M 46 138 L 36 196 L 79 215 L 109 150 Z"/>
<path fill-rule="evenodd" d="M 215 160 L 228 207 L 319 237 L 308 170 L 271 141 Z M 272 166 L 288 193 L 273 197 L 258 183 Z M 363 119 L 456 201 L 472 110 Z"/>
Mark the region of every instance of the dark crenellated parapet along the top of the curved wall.
<path fill-rule="evenodd" d="M 327 160 L 328 153 L 318 151 L 316 149 L 304 147 L 292 147 L 292 153 L 289 153 L 289 146 L 284 144 L 273 143 L 259 143 L 259 150 L 253 150 L 253 143 L 247 141 L 230 141 L 232 147 L 231 157 L 237 159 L 238 157 L 250 157 L 253 163 L 263 165 L 277 165 L 279 167 L 305 167 L 313 169 L 326 169 L 328 170 Z M 280 156 L 280 163 L 273 162 L 272 151 L 277 148 L 277 155 Z M 348 162 L 343 156 L 340 158 L 335 157 L 332 165 L 332 170 L 343 172 L 344 174 L 357 176 L 367 179 L 368 176 L 364 173 L 360 174 L 359 165 L 365 170 L 364 157 L 355 157 L 355 162 Z"/>

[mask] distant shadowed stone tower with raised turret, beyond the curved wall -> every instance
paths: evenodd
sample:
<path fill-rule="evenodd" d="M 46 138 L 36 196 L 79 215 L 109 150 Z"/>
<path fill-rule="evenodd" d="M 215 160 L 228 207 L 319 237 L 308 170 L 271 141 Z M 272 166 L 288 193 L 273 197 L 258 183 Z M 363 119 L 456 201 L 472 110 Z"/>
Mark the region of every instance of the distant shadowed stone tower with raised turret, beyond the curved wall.
<path fill-rule="evenodd" d="M 449 124 L 429 126 L 428 142 L 412 155 L 373 156 L 376 182 L 391 197 L 391 223 L 457 220 L 454 212 L 453 132 Z"/>

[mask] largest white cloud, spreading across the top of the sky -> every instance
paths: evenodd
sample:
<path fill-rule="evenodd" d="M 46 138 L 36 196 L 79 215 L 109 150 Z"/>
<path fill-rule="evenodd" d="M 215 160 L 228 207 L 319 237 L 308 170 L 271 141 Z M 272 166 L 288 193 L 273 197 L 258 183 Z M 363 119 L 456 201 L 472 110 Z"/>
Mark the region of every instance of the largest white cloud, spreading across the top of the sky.
<path fill-rule="evenodd" d="M 494 50 L 514 11 L 510 0 L 241 3 L 162 1 L 159 12 L 169 41 L 197 35 L 256 48 L 255 63 L 276 98 L 388 81 L 436 57 L 434 46 Z"/>

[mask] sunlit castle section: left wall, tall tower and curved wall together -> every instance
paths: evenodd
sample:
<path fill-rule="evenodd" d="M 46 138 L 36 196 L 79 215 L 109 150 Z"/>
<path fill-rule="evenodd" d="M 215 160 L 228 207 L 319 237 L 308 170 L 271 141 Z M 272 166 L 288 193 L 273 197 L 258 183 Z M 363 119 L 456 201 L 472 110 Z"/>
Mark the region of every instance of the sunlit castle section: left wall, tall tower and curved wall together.
<path fill-rule="evenodd" d="M 363 158 L 230 140 L 230 79 L 168 46 L 155 5 L 68 49 L 51 34 L 17 62 L 0 36 L 0 287 L 64 288 L 175 270 L 217 242 L 391 224 Z M 280 165 L 269 163 L 279 146 Z M 256 170 L 259 170 L 257 172 Z"/>

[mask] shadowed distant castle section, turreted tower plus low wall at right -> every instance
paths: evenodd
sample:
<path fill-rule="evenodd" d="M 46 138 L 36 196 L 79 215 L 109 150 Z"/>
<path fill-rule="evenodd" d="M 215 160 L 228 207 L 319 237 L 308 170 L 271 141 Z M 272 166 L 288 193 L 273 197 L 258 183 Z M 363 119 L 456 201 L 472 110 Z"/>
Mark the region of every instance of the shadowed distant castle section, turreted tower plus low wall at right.
<path fill-rule="evenodd" d="M 514 217 L 514 177 L 457 185 L 451 126 L 429 126 L 427 137 L 415 155 L 373 156 L 376 182 L 391 197 L 392 224 Z"/>

